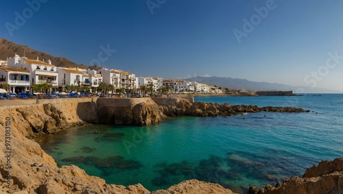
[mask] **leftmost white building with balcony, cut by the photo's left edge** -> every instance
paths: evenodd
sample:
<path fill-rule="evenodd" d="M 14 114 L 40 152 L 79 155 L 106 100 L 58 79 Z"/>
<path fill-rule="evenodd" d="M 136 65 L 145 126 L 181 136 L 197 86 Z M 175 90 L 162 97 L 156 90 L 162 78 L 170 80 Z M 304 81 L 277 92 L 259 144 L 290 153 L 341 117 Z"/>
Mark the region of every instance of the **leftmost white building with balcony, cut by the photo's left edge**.
<path fill-rule="evenodd" d="M 29 74 L 25 69 L 0 66 L 0 84 L 10 84 L 12 93 L 26 93 L 29 90 Z"/>

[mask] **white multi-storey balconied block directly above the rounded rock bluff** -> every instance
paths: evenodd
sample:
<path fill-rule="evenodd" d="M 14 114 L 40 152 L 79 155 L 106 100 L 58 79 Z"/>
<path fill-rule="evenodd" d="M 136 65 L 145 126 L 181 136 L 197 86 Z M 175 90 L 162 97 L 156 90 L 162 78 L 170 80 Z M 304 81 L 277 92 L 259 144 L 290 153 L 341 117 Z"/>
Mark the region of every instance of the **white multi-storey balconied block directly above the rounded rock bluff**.
<path fill-rule="evenodd" d="M 106 84 L 111 84 L 115 89 L 124 88 L 126 91 L 136 88 L 136 75 L 126 71 L 102 68 L 97 71 L 101 74 Z"/>

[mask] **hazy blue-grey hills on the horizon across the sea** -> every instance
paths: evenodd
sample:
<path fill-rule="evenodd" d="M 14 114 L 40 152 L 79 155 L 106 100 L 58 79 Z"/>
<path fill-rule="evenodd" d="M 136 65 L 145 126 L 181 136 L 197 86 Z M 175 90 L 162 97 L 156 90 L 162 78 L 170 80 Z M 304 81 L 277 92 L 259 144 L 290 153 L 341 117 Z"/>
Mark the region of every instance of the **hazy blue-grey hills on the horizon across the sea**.
<path fill-rule="evenodd" d="M 285 84 L 277 84 L 277 83 L 268 83 L 268 82 L 252 82 L 249 80 L 238 79 L 238 78 L 231 78 L 231 77 L 191 77 L 186 79 L 187 81 L 194 81 L 203 84 L 207 84 L 210 86 L 221 86 L 224 88 L 231 88 L 231 89 L 241 89 L 244 88 L 246 90 L 293 90 L 296 93 L 296 90 L 300 87 L 295 86 L 288 86 Z M 311 87 L 301 87 L 305 90 L 304 93 L 342 93 L 342 91 L 337 90 L 329 90 L 325 88 L 311 88 Z"/>

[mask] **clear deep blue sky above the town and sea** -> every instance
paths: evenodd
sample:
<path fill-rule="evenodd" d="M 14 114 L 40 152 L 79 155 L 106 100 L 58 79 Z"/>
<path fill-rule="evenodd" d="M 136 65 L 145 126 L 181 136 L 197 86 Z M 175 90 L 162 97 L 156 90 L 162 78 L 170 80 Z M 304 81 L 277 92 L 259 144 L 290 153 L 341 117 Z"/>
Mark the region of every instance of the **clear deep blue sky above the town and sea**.
<path fill-rule="evenodd" d="M 1 37 L 80 64 L 99 61 L 100 47 L 108 47 L 103 66 L 138 76 L 211 75 L 343 91 L 340 0 L 0 4 Z"/>

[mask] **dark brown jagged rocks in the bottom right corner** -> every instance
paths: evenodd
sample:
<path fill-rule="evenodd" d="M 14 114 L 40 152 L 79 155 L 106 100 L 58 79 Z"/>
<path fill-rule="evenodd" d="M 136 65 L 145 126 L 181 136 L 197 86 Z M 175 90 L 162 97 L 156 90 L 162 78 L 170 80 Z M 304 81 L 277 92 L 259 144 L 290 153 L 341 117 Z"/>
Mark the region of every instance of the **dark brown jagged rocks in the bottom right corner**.
<path fill-rule="evenodd" d="M 322 161 L 318 167 L 307 169 L 303 178 L 292 176 L 276 186 L 266 185 L 263 189 L 250 186 L 249 193 L 293 194 L 293 193 L 343 193 L 343 158 Z"/>

